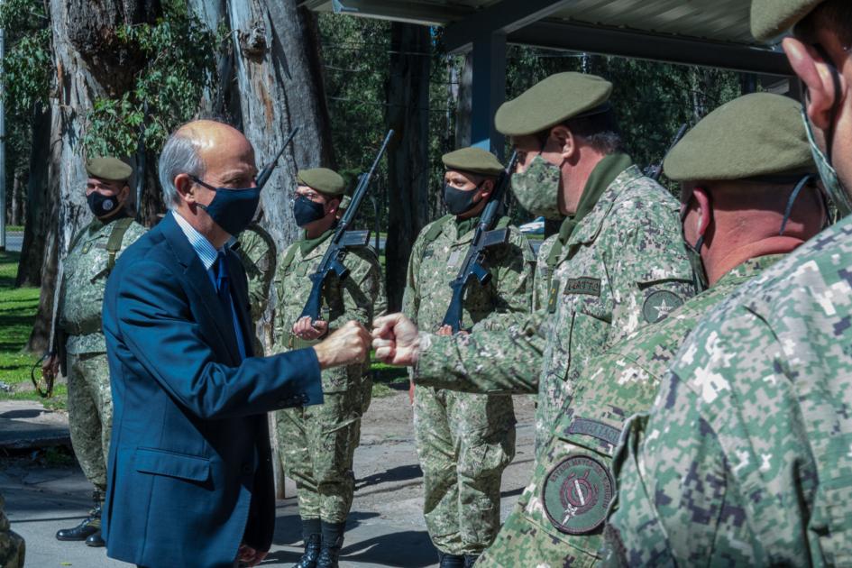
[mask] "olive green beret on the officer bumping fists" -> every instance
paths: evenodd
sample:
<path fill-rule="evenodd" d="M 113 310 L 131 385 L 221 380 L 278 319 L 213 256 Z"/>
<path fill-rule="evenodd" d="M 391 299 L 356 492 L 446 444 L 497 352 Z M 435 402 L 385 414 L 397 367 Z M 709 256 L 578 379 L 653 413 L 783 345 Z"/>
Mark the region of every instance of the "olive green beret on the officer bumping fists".
<path fill-rule="evenodd" d="M 595 75 L 556 73 L 497 109 L 494 124 L 508 136 L 535 134 L 603 105 L 612 83 Z"/>

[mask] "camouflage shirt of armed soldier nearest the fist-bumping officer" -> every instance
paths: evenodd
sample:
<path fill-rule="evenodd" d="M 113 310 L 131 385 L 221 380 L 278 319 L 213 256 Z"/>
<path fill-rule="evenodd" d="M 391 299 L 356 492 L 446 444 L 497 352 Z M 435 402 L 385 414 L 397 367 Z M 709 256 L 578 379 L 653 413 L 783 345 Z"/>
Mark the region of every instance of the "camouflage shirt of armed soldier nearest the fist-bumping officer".
<path fill-rule="evenodd" d="M 453 298 L 450 281 L 471 246 L 475 222 L 460 223 L 454 217 L 444 217 L 427 224 L 417 236 L 408 261 L 402 311 L 423 329 L 436 331 L 444 321 Z M 426 235 L 435 223 L 442 224 L 441 232 L 427 242 Z M 472 282 L 465 290 L 463 327 L 503 329 L 529 313 L 533 252 L 516 227 L 508 226 L 508 235 L 506 245 L 486 252 L 485 266 L 491 272 L 488 283 L 481 286 Z"/>

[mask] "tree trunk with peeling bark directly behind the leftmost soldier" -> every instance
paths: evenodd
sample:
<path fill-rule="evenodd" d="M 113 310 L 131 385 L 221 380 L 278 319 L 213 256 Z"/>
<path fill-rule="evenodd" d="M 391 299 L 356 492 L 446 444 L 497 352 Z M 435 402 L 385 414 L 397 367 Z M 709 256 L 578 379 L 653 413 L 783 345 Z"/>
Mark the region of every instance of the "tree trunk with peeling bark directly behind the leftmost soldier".
<path fill-rule="evenodd" d="M 124 49 L 115 30 L 124 24 L 152 23 L 160 13 L 158 0 L 50 0 L 57 85 L 50 100 L 50 139 L 44 146 L 49 151 L 41 167 L 47 169 L 44 203 L 59 211 L 50 215 L 42 240 L 41 298 L 27 344 L 32 351 L 49 346 L 59 261 L 68 253 L 73 235 L 91 219 L 83 191 L 86 113 L 98 96 L 131 87 L 134 72 L 141 69 L 141 55 Z"/>

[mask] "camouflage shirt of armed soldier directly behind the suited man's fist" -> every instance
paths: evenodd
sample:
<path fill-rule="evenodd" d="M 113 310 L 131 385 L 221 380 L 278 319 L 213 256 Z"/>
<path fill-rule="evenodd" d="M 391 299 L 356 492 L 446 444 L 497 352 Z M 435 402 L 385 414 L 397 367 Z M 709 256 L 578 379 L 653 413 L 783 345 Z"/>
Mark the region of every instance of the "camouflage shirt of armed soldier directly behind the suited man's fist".
<path fill-rule="evenodd" d="M 325 235 L 330 236 L 331 231 Z M 310 295 L 312 282 L 308 277 L 316 271 L 330 243 L 331 240 L 326 238 L 304 256 L 300 243 L 293 243 L 281 256 L 281 262 L 275 270 L 278 304 L 275 309 L 273 343 L 276 353 L 318 343 L 299 339 L 290 330 Z M 333 274 L 325 281 L 320 318 L 328 322 L 330 331 L 350 320 L 369 328 L 373 317 L 384 311 L 386 303 L 381 295 L 379 259 L 371 247 L 365 247 L 348 252 L 344 265 L 349 269 L 349 274 L 343 280 Z M 358 388 L 366 371 L 366 364 L 325 370 L 322 376 L 323 392 Z"/>

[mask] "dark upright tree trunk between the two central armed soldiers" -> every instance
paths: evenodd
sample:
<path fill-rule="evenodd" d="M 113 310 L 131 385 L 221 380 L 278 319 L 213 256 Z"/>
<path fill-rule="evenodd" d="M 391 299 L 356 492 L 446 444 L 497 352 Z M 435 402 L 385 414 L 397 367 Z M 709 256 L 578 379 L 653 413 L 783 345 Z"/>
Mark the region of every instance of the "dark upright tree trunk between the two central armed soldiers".
<path fill-rule="evenodd" d="M 385 246 L 388 307 L 402 306 L 408 256 L 429 209 L 429 28 L 390 25 L 387 122 L 396 135 L 388 151 L 389 220 Z"/>

